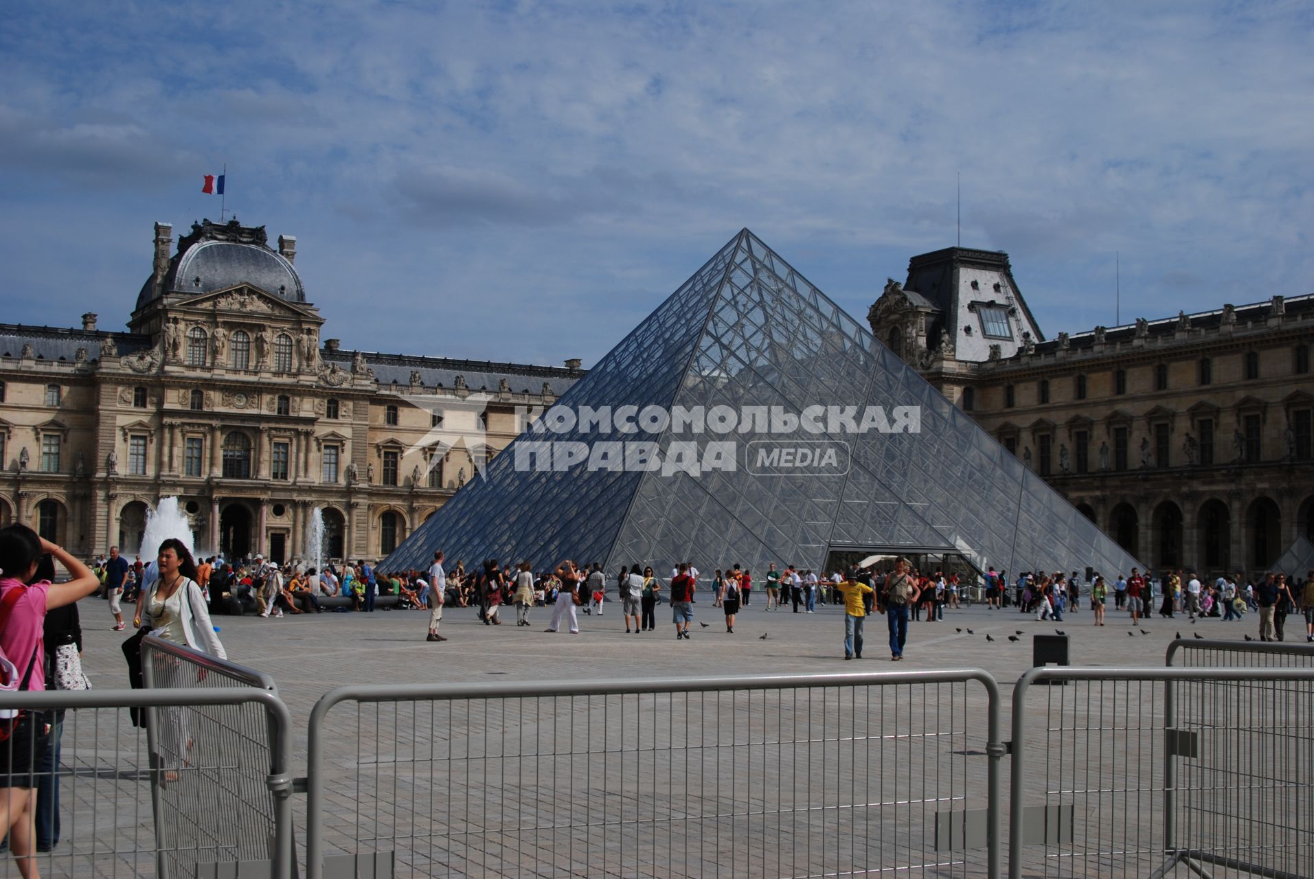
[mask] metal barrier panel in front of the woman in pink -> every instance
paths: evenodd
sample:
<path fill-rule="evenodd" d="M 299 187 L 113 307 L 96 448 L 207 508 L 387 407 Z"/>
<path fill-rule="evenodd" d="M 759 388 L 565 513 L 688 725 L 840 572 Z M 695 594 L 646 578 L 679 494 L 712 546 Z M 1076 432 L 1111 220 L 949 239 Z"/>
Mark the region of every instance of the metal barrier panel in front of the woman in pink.
<path fill-rule="evenodd" d="M 213 879 L 286 879 L 290 875 L 290 847 L 277 858 L 264 854 L 255 863 L 235 863 L 231 855 L 242 851 L 246 842 L 240 838 L 242 828 L 208 813 L 202 798 L 185 795 L 198 786 L 193 779 L 227 771 L 227 766 L 214 765 L 219 759 L 217 754 L 222 754 L 222 748 L 212 748 L 209 742 L 217 733 L 214 728 L 200 723 L 192 725 L 196 746 L 181 765 L 158 767 L 143 731 L 130 724 L 125 711 L 145 708 L 158 715 L 177 711 L 189 717 L 222 711 L 263 713 L 279 731 L 279 741 L 284 744 L 281 758 L 285 759 L 290 717 L 273 694 L 252 687 L 0 692 L 0 708 L 39 712 L 38 723 L 51 727 L 47 748 L 17 736 L 0 745 L 9 770 L 0 786 L 37 788 L 38 844 L 54 844 L 35 855 L 35 866 L 43 875 Z M 260 728 L 264 725 L 261 719 Z M 13 771 L 29 763 L 35 769 L 34 778 Z M 164 808 L 172 815 L 162 813 L 160 801 L 152 798 L 160 788 L 171 791 L 172 800 Z M 192 857 L 162 859 L 156 829 L 162 823 L 177 820 L 206 824 L 214 844 L 194 849 Z M 290 828 L 285 836 L 290 841 Z M 21 838 L 12 842 L 16 844 L 12 849 L 22 847 Z M 180 861 L 191 866 L 185 871 L 176 870 Z M 17 875 L 16 855 L 12 851 L 0 854 L 0 876 Z"/>

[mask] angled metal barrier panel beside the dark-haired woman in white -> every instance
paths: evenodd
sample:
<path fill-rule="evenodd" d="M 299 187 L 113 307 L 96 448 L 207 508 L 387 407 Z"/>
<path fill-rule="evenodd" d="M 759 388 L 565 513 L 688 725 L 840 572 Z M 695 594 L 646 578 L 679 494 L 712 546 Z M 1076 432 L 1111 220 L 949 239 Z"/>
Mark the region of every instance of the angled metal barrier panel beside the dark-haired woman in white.
<path fill-rule="evenodd" d="M 256 688 L 277 696 L 268 674 L 155 636 L 142 641 L 142 675 L 147 690 Z M 256 703 L 151 708 L 147 717 L 151 769 L 164 780 L 151 786 L 158 874 L 290 865 L 290 728 Z"/>

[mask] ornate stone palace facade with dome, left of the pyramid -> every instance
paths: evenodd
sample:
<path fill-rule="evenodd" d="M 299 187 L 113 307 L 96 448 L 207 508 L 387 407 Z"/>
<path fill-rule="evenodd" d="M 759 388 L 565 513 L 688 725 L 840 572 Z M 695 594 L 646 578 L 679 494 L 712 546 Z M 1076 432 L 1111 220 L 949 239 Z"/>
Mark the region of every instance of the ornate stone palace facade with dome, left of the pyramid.
<path fill-rule="evenodd" d="M 137 553 L 177 497 L 200 551 L 284 560 L 318 508 L 330 557 L 382 557 L 583 374 L 321 340 L 294 260 L 237 219 L 176 251 L 156 223 L 127 332 L 0 325 L 0 524 Z"/>

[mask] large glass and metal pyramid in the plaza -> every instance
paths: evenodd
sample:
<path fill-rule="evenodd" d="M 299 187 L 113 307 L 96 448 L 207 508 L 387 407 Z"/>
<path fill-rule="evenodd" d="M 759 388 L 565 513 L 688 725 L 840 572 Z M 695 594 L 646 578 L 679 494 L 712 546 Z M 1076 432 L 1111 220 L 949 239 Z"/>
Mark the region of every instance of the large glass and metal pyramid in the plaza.
<path fill-rule="evenodd" d="M 656 440 L 662 456 L 687 443 L 677 430 L 636 438 L 610 430 L 527 431 L 411 533 L 381 569 L 423 569 L 435 549 L 451 562 L 562 558 L 704 569 L 769 562 L 821 569 L 832 549 L 957 552 L 980 570 L 1127 573 L 1138 562 L 972 419 L 742 230 L 611 349 L 557 402 L 668 411 L 800 413 L 807 407 L 920 409 L 918 432 L 704 432 L 732 440 L 732 468 L 526 469 L 523 444 Z M 750 427 L 759 420 L 741 419 Z M 632 428 L 632 424 L 629 426 Z M 830 430 L 834 428 L 834 430 Z M 752 460 L 763 444 L 830 443 L 842 472 Z M 541 461 L 541 456 L 537 457 Z"/>

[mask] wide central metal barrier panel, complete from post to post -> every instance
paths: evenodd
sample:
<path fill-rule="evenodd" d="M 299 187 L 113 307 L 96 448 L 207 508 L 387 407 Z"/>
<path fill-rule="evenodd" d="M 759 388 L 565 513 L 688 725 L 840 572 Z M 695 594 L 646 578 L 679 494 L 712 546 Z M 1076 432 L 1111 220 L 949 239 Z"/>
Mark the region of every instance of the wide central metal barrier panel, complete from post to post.
<path fill-rule="evenodd" d="M 993 879 L 999 733 L 978 670 L 340 687 L 306 875 Z"/>

